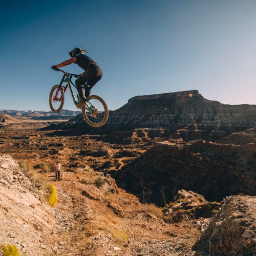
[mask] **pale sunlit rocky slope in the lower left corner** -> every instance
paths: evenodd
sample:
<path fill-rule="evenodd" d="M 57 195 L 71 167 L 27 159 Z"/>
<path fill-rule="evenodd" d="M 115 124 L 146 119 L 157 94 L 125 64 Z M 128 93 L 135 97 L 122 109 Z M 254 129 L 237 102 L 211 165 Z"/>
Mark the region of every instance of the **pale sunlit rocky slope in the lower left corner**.
<path fill-rule="evenodd" d="M 50 208 L 39 201 L 39 191 L 8 155 L 0 155 L 0 241 L 22 253 L 49 254 L 45 236 L 52 231 Z M 1 252 L 0 252 L 1 254 Z"/>

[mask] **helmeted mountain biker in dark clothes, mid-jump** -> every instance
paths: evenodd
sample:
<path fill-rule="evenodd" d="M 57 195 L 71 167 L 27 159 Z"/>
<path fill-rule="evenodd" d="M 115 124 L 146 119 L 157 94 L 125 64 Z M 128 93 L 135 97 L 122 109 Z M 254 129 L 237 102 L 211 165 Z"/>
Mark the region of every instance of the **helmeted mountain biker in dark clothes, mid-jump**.
<path fill-rule="evenodd" d="M 70 59 L 63 61 L 58 65 L 52 66 L 53 70 L 57 70 L 58 68 L 75 63 L 84 70 L 84 72 L 75 80 L 76 89 L 81 99 L 81 101 L 77 104 L 77 108 L 81 108 L 86 101 L 86 97 L 90 95 L 92 87 L 95 86 L 103 75 L 101 68 L 93 59 L 83 54 L 84 51 L 86 50 L 76 47 L 69 52 L 69 55 L 71 56 Z M 87 83 L 85 86 L 85 92 L 82 88 L 84 83 Z"/>

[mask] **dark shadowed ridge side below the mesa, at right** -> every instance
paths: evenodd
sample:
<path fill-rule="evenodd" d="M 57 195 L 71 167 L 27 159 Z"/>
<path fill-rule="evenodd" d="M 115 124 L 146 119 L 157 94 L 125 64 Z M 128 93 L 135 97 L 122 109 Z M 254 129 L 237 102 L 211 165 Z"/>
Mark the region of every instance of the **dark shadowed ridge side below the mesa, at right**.
<path fill-rule="evenodd" d="M 256 144 L 218 144 L 197 140 L 156 143 L 117 173 L 119 185 L 148 202 L 172 201 L 177 190 L 193 190 L 206 200 L 256 194 Z"/>

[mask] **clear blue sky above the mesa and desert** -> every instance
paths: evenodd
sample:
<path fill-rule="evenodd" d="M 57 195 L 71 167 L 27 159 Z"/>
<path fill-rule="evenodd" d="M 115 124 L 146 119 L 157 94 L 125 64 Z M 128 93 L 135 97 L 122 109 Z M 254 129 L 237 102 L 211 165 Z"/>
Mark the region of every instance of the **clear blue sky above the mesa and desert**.
<path fill-rule="evenodd" d="M 255 0 L 8 0 L 0 8 L 0 109 L 46 110 L 75 47 L 103 70 L 110 110 L 129 98 L 199 90 L 256 104 Z M 77 65 L 63 68 L 80 74 Z M 76 110 L 69 92 L 63 109 Z"/>

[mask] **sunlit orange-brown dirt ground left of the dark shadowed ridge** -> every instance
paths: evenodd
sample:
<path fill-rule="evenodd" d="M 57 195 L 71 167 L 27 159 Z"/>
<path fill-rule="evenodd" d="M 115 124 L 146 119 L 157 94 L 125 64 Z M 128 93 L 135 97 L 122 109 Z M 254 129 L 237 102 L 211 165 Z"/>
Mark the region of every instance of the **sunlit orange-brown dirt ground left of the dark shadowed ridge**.
<path fill-rule="evenodd" d="M 199 237 L 196 220 L 165 223 L 160 207 L 142 204 L 104 176 L 104 169 L 118 170 L 148 146 L 110 144 L 100 136 L 53 136 L 49 131 L 1 132 L 0 154 L 15 159 L 24 178 L 18 184 L 0 184 L 7 189 L 1 190 L 1 204 L 7 209 L 3 221 L 11 227 L 2 241 L 15 240 L 28 255 L 193 255 L 191 247 Z M 127 151 L 135 154 L 120 154 Z M 53 171 L 57 159 L 63 166 L 61 181 L 55 181 Z M 46 182 L 56 188 L 55 207 L 41 195 Z M 15 191 L 14 198 L 4 196 L 8 189 Z M 41 219 L 32 221 L 34 215 Z M 20 237 L 22 229 L 29 239 Z"/>

